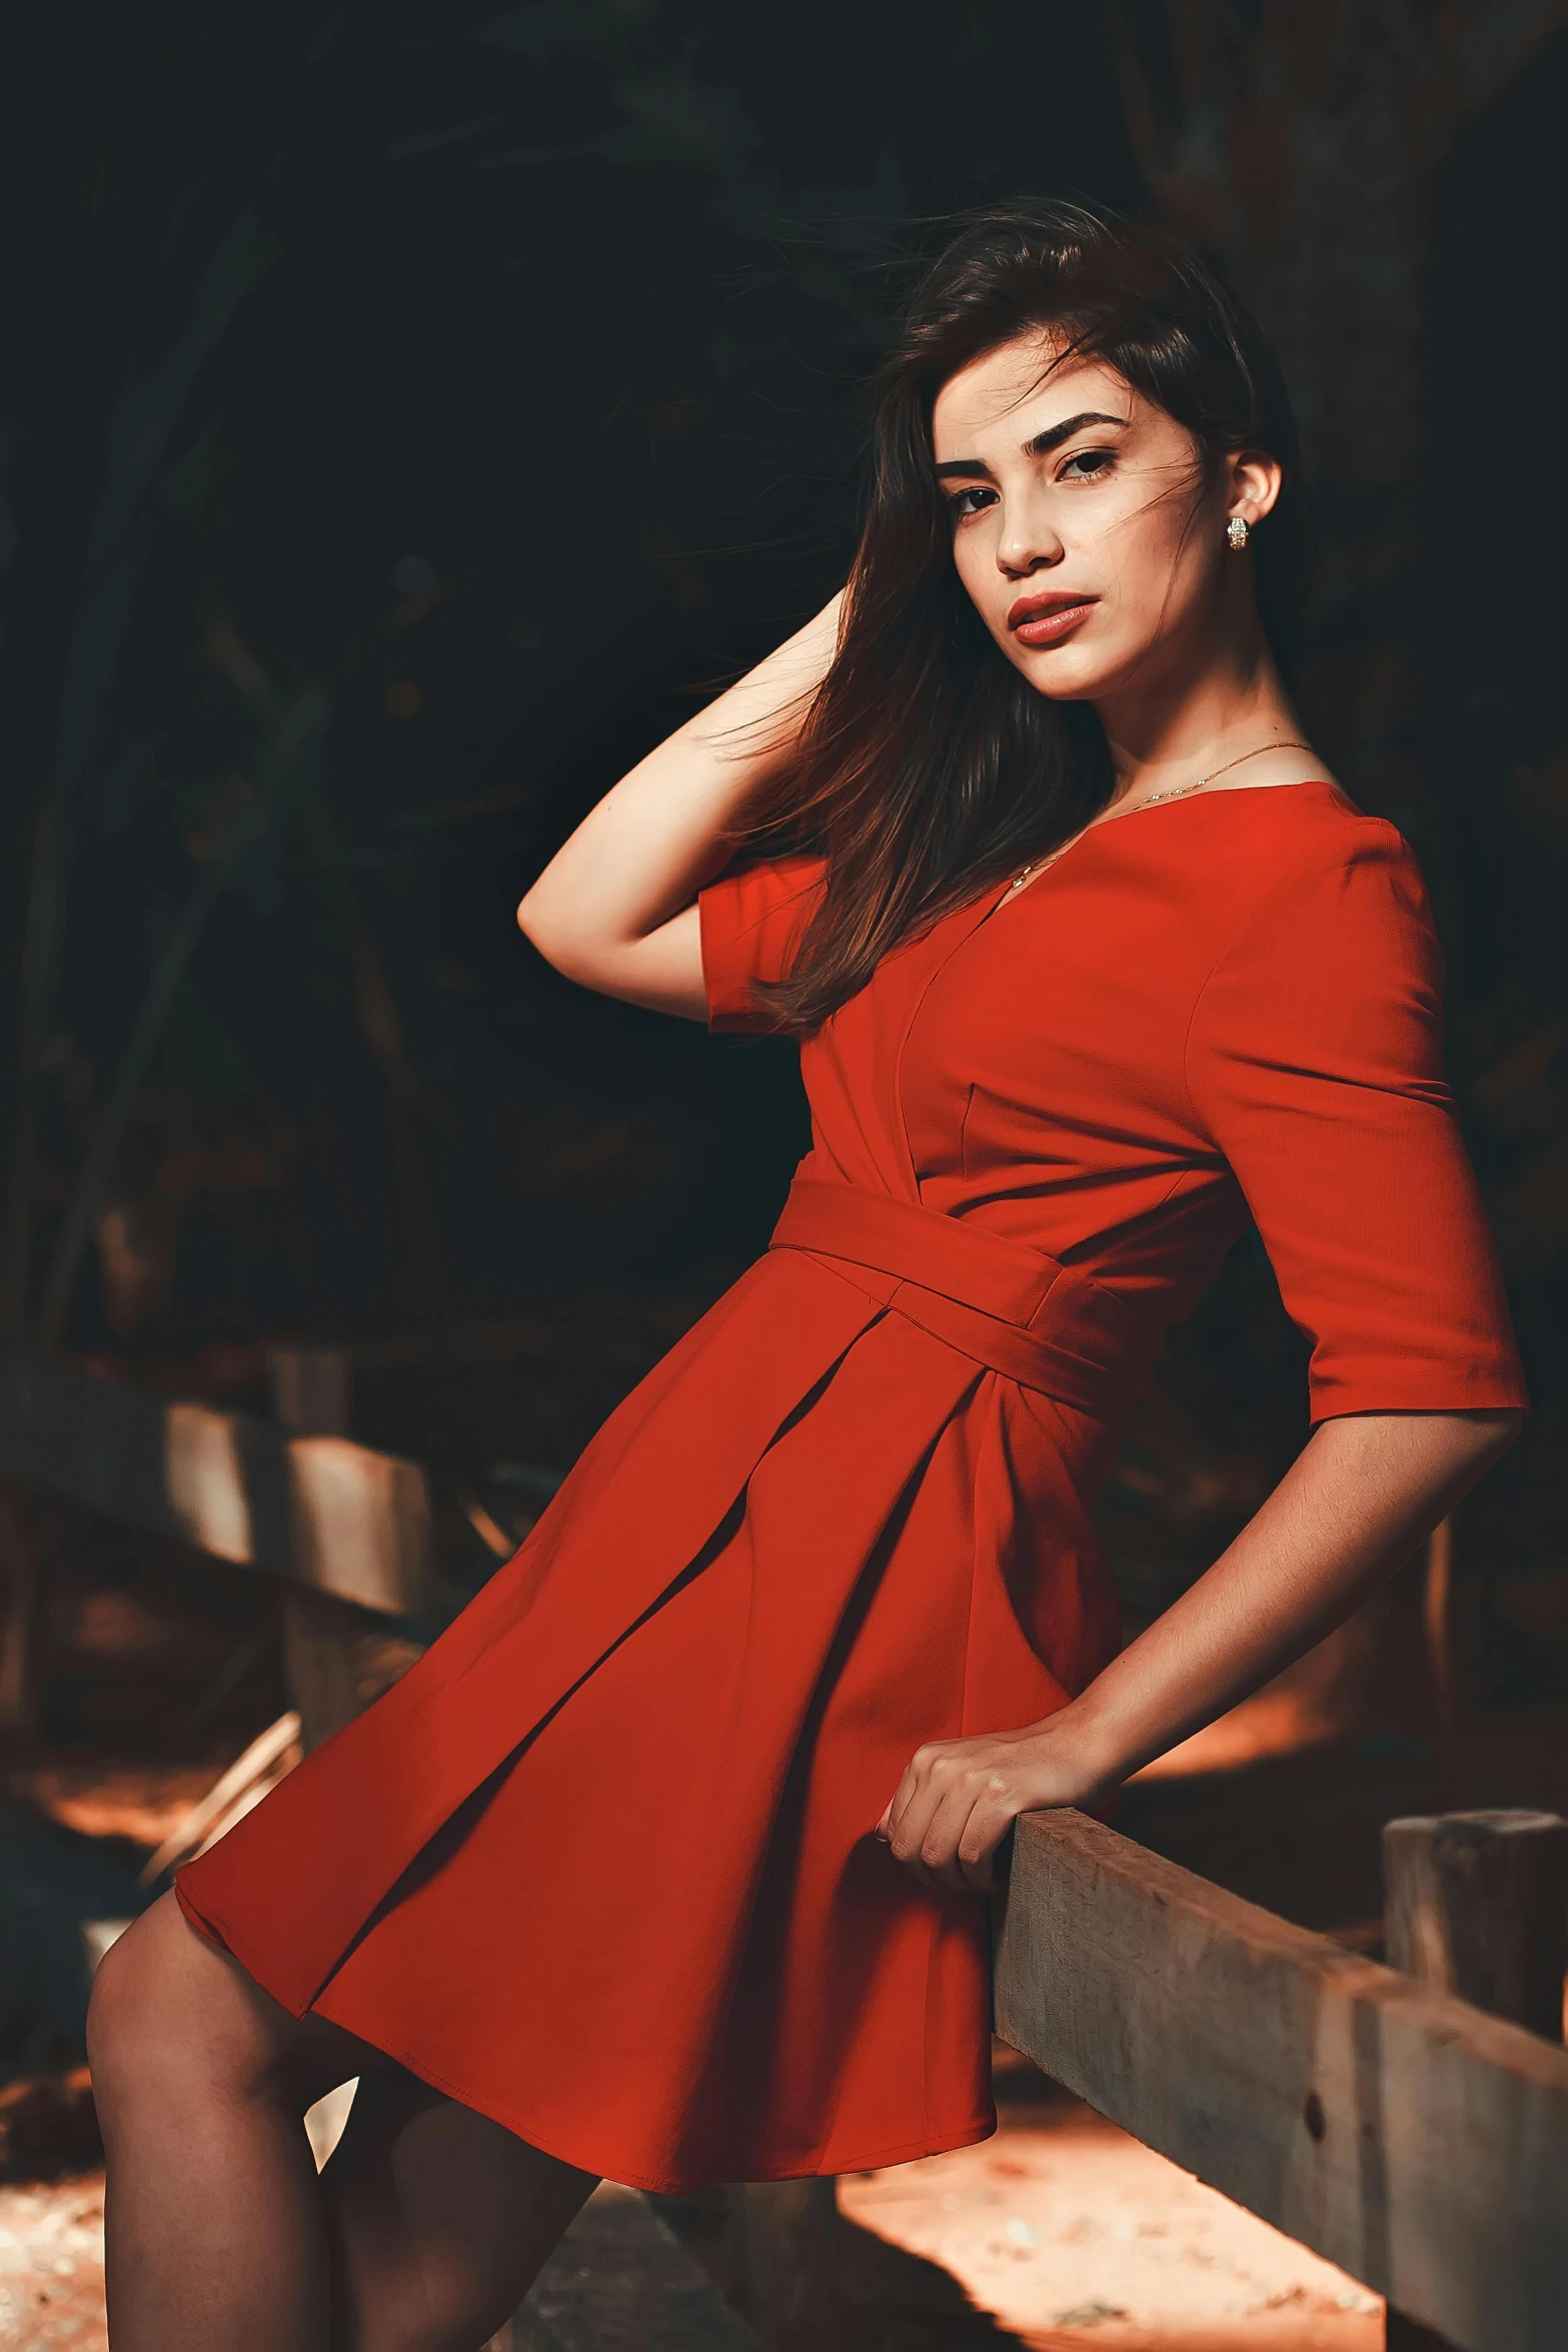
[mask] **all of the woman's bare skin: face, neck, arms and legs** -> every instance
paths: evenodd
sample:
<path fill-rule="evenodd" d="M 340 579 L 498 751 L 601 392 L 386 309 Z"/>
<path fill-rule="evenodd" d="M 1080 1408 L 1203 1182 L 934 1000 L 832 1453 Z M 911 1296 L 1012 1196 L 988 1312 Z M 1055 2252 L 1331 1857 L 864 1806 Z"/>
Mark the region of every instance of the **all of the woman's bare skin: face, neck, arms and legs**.
<path fill-rule="evenodd" d="M 936 402 L 933 456 L 959 579 L 997 644 L 1041 694 L 1091 701 L 1105 722 L 1117 788 L 1095 823 L 1241 755 L 1206 790 L 1326 776 L 1314 755 L 1274 748 L 1302 729 L 1258 626 L 1251 560 L 1225 546 L 1229 515 L 1267 515 L 1279 468 L 1255 449 L 1204 463 L 1110 369 L 1051 362 L 1048 341 L 1025 339 L 966 367 Z M 1032 644 L 1009 616 L 1041 593 L 1088 612 Z M 557 851 L 517 920 L 559 971 L 705 1021 L 696 894 L 790 760 L 837 628 L 835 597 Z M 1039 1724 L 919 1748 L 875 1825 L 891 1856 L 926 1884 L 987 1889 L 1018 1813 L 1095 1804 L 1321 1639 L 1516 1418 L 1324 1423 L 1251 1526 L 1081 1698 Z M 473 2352 L 592 2187 L 324 2018 L 292 2018 L 174 1896 L 99 1969 L 89 2056 L 115 2352 Z M 303 2114 L 353 2074 L 350 2124 L 317 2180 Z"/>

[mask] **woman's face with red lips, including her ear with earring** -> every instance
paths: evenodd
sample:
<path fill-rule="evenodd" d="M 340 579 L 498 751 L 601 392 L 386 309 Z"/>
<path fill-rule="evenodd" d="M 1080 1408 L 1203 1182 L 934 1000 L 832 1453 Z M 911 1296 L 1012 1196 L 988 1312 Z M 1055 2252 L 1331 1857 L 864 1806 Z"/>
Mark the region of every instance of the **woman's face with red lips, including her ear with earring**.
<path fill-rule="evenodd" d="M 1025 336 L 950 376 L 931 440 L 959 579 L 992 637 L 1041 694 L 1100 701 L 1166 656 L 1192 661 L 1239 588 L 1251 616 L 1225 524 L 1269 510 L 1279 466 L 1204 459 L 1112 367 L 1051 367 L 1053 348 Z"/>

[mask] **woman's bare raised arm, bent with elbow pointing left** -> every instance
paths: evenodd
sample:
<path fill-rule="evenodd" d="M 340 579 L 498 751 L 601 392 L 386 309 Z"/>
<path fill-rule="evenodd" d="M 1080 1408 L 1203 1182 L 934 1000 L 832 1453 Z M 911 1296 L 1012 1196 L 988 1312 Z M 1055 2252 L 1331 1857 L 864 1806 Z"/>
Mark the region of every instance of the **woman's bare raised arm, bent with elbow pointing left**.
<path fill-rule="evenodd" d="M 550 858 L 517 922 L 569 981 L 708 1018 L 696 894 L 729 856 L 726 830 L 799 739 L 837 649 L 839 604 L 639 760 Z"/>

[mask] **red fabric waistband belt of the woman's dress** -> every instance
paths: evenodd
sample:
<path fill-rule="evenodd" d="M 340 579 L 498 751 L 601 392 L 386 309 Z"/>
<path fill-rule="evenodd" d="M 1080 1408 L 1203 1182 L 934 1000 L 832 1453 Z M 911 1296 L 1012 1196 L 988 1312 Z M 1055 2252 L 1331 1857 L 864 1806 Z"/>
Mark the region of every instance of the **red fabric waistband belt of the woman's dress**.
<path fill-rule="evenodd" d="M 825 1258 L 976 1364 L 1103 1421 L 1161 1341 L 1157 1324 L 1060 1258 L 870 1185 L 797 1176 L 769 1249 Z"/>

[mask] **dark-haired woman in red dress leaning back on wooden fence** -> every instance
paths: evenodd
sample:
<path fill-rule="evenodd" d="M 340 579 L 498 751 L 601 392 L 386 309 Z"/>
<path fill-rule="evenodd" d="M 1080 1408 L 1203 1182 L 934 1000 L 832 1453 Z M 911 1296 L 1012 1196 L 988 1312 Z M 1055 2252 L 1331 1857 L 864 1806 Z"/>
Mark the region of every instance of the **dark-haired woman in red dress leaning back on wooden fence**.
<path fill-rule="evenodd" d="M 1013 1818 L 1295 1658 L 1514 1432 L 1420 875 L 1281 684 L 1255 327 L 1140 228 L 990 214 L 875 421 L 842 602 L 520 908 L 590 988 L 799 1033 L 811 1155 L 517 1559 L 101 1969 L 115 2352 L 463 2352 L 597 2173 L 980 2138 Z M 1119 1651 L 1088 1505 L 1248 1214 L 1314 1435 Z"/>

